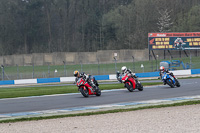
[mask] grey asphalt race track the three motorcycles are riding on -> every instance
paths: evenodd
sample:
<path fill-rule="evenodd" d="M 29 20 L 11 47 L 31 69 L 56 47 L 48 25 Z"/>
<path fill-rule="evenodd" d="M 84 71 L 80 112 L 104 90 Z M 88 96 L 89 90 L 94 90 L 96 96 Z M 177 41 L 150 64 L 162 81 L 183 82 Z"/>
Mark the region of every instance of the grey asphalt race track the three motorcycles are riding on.
<path fill-rule="evenodd" d="M 200 79 L 179 79 L 181 87 L 168 85 L 144 87 L 144 91 L 127 89 L 102 92 L 100 97 L 83 97 L 80 93 L 0 99 L 0 114 L 66 109 L 75 107 L 105 105 L 123 102 L 167 99 L 182 96 L 200 95 Z M 101 86 L 100 86 L 101 88 Z"/>

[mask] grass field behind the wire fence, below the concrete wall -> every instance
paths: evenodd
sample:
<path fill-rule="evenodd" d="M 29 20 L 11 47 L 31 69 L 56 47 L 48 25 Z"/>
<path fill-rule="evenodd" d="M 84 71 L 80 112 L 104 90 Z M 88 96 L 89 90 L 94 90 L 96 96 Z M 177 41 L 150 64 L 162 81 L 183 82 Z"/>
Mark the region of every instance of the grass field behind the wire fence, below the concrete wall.
<path fill-rule="evenodd" d="M 169 60 L 169 59 L 166 59 Z M 190 63 L 190 58 L 174 58 L 173 60 L 183 61 L 184 65 Z M 163 61 L 160 59 L 157 61 L 139 61 L 139 62 L 126 62 L 126 63 L 116 63 L 116 68 L 120 71 L 122 66 L 127 66 L 135 73 L 142 72 L 153 72 L 159 68 L 159 62 Z M 191 68 L 197 69 L 200 68 L 200 57 L 192 57 L 191 59 Z M 141 64 L 144 66 L 144 70 L 141 68 Z M 157 65 L 156 65 L 157 64 Z M 183 69 L 182 65 L 175 67 L 174 69 Z M 55 72 L 57 70 L 57 72 Z M 31 78 L 49 78 L 49 77 L 64 77 L 64 76 L 73 76 L 73 71 L 79 70 L 91 75 L 107 75 L 115 74 L 115 63 L 107 64 L 78 64 L 78 65 L 57 65 L 57 66 L 12 66 L 5 67 L 4 71 L 4 80 L 14 80 L 14 79 L 31 79 Z M 2 80 L 2 74 L 1 74 Z"/>

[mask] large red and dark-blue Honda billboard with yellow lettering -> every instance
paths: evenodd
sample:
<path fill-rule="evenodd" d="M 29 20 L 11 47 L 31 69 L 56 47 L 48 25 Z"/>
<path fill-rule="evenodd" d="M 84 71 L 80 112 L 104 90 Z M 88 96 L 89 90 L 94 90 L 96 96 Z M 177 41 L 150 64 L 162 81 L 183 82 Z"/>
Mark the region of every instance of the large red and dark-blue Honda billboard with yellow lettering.
<path fill-rule="evenodd" d="M 200 32 L 149 33 L 149 50 L 200 49 Z"/>

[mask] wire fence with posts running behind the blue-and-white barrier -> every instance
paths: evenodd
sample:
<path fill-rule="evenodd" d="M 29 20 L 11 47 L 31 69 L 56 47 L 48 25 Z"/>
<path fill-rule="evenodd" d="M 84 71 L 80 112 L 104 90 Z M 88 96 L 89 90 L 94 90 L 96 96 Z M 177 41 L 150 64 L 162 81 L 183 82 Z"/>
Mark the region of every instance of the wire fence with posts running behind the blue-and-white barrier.
<path fill-rule="evenodd" d="M 108 75 L 115 74 L 116 71 L 121 71 L 122 66 L 126 66 L 135 73 L 155 72 L 159 70 L 161 61 L 169 61 L 171 70 L 182 69 L 198 69 L 200 68 L 199 56 L 182 56 L 179 54 L 159 58 L 159 55 L 150 56 L 147 61 L 132 61 L 123 62 L 113 59 L 113 63 L 102 63 L 97 61 L 94 64 L 68 65 L 64 62 L 63 65 L 46 65 L 46 66 L 1 66 L 1 80 L 16 80 L 16 79 L 35 79 L 35 78 L 54 78 L 54 77 L 70 77 L 73 76 L 73 71 L 78 70 L 91 75 Z M 177 62 L 178 61 L 178 62 Z"/>

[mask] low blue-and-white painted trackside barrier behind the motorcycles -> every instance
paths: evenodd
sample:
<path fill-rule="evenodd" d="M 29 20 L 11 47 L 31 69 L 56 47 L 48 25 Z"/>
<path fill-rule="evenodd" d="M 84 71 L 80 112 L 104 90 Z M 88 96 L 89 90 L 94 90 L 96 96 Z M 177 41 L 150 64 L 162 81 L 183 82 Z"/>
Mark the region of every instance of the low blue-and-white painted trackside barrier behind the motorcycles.
<path fill-rule="evenodd" d="M 177 70 L 171 71 L 174 75 L 192 75 L 200 74 L 200 69 L 191 70 Z M 136 73 L 139 78 L 158 77 L 159 72 Z M 115 80 L 116 75 L 95 75 L 96 80 Z M 37 84 L 37 83 L 59 83 L 59 82 L 74 82 L 75 77 L 60 77 L 60 78 L 41 78 L 41 79 L 22 79 L 22 80 L 5 80 L 0 81 L 0 85 L 14 85 L 14 84 Z"/>

